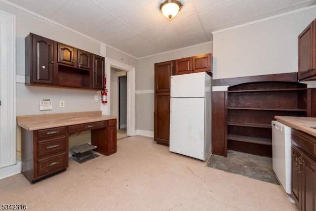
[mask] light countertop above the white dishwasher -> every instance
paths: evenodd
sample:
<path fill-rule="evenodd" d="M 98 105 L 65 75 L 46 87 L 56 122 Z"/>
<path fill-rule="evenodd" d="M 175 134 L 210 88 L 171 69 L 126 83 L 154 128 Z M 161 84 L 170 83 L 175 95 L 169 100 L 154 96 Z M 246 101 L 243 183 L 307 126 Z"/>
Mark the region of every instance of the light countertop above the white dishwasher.
<path fill-rule="evenodd" d="M 286 117 L 286 116 L 275 116 L 276 120 L 289 127 L 302 130 L 306 133 L 316 136 L 316 118 L 313 117 Z"/>

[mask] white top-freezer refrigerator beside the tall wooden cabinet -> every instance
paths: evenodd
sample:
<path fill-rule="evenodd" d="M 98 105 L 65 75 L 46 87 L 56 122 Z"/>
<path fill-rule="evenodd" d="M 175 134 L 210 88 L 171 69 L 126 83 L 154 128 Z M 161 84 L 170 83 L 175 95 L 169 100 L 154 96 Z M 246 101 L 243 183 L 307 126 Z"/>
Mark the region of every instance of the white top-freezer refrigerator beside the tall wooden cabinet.
<path fill-rule="evenodd" d="M 205 161 L 212 153 L 212 78 L 171 76 L 169 150 Z"/>

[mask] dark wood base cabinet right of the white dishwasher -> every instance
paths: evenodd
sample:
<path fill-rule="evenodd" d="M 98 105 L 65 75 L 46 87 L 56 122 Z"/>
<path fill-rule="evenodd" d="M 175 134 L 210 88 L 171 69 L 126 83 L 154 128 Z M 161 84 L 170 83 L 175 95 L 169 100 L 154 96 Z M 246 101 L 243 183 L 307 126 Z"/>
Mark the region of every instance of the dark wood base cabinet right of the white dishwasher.
<path fill-rule="evenodd" d="M 316 137 L 291 130 L 291 194 L 300 211 L 316 210 Z"/>

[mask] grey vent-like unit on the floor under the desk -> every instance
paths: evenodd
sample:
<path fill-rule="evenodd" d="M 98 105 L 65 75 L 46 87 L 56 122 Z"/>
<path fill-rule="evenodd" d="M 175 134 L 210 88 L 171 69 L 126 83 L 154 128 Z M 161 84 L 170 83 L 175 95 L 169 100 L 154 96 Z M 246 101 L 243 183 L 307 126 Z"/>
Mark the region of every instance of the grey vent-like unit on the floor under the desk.
<path fill-rule="evenodd" d="M 91 144 L 81 144 L 78 146 L 73 146 L 70 148 L 70 151 L 75 154 L 73 154 L 71 158 L 80 164 L 92 160 L 96 157 L 99 157 L 99 155 L 93 153 L 92 151 L 95 148 L 97 147 Z"/>

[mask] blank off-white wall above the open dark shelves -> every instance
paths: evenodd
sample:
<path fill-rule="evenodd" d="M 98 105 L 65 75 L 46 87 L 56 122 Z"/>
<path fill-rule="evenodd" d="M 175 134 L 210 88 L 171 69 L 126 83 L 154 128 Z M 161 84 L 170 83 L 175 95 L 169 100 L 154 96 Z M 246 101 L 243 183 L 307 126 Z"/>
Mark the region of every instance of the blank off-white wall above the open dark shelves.
<path fill-rule="evenodd" d="M 213 79 L 297 72 L 298 35 L 316 6 L 213 35 Z"/>

